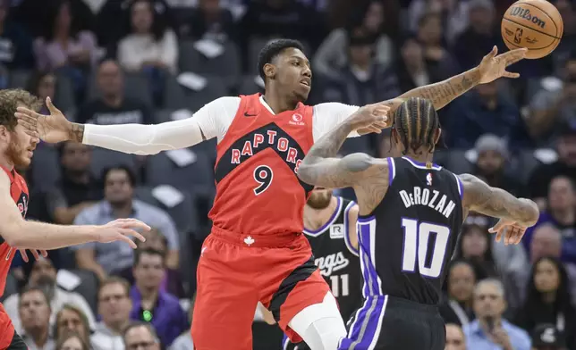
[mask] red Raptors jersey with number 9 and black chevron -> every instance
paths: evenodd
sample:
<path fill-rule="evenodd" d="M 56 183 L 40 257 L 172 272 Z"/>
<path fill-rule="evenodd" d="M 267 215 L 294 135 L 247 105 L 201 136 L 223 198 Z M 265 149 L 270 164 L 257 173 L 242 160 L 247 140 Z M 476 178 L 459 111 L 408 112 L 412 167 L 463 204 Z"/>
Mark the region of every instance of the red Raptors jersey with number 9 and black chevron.
<path fill-rule="evenodd" d="M 259 94 L 241 96 L 216 157 L 216 199 L 210 219 L 239 234 L 302 232 L 311 186 L 296 176 L 313 144 L 313 107 L 273 114 Z"/>

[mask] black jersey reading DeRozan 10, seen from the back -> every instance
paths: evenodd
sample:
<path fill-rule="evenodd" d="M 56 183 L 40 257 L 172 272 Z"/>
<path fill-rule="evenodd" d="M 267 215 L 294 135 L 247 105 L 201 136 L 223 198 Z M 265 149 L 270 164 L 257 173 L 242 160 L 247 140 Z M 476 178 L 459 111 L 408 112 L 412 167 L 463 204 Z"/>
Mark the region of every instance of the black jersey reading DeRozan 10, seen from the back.
<path fill-rule="evenodd" d="M 358 220 L 362 293 L 437 304 L 462 229 L 462 182 L 436 164 L 387 162 L 388 191 Z"/>

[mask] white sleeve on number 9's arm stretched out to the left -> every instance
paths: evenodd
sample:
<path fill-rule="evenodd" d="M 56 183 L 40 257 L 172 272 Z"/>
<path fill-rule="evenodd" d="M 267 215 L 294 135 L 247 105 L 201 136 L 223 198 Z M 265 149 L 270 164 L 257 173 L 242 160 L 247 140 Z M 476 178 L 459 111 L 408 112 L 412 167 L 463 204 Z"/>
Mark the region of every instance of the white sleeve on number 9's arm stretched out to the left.
<path fill-rule="evenodd" d="M 82 143 L 127 154 L 157 154 L 185 148 L 206 139 L 224 137 L 240 105 L 240 97 L 220 97 L 182 121 L 156 125 L 86 124 Z"/>

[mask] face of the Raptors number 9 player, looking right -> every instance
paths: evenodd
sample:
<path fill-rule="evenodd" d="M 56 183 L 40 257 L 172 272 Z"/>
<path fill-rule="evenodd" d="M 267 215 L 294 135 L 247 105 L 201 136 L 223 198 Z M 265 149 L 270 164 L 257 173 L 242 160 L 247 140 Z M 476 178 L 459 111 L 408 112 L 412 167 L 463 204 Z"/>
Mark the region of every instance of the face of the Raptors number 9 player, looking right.
<path fill-rule="evenodd" d="M 312 71 L 306 55 L 297 48 L 287 48 L 276 57 L 275 79 L 298 101 L 308 99 L 312 87 Z"/>

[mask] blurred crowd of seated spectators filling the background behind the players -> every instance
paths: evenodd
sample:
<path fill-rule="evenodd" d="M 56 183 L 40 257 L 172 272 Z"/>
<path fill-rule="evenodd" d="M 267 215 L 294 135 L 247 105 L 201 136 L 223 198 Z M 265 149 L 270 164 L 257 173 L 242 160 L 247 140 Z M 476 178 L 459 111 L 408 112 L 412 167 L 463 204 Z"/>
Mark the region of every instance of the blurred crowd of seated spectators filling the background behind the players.
<path fill-rule="evenodd" d="M 468 218 L 441 306 L 446 348 L 576 349 L 576 2 L 551 2 L 564 22 L 553 54 L 516 63 L 520 79 L 476 87 L 439 112 L 445 147 L 436 163 L 541 208 L 519 246 L 494 242 L 491 219 Z M 307 47 L 309 104 L 370 104 L 468 70 L 495 45 L 505 51 L 499 26 L 510 4 L 0 0 L 0 88 L 51 97 L 79 122 L 177 120 L 220 96 L 262 92 L 259 49 L 290 37 Z M 144 157 L 38 145 L 25 174 L 30 219 L 134 217 L 154 229 L 136 251 L 89 244 L 14 259 L 3 302 L 30 349 L 192 348 L 215 146 Z M 391 147 L 384 133 L 349 139 L 342 153 L 385 157 Z M 350 189 L 340 195 L 353 198 Z M 256 312 L 254 348 L 279 349 L 278 329 L 260 320 Z M 498 337 L 484 335 L 479 320 Z"/>

